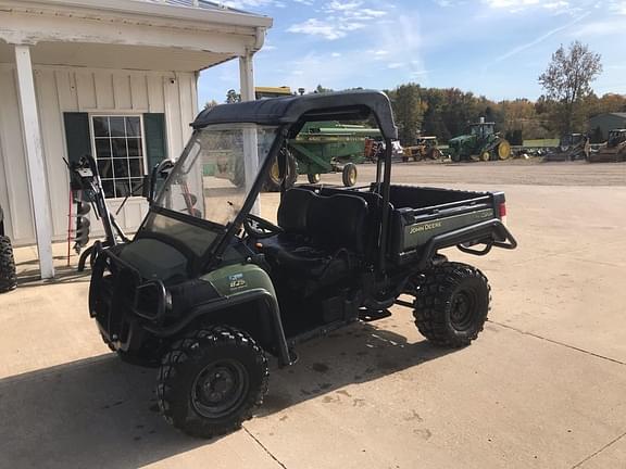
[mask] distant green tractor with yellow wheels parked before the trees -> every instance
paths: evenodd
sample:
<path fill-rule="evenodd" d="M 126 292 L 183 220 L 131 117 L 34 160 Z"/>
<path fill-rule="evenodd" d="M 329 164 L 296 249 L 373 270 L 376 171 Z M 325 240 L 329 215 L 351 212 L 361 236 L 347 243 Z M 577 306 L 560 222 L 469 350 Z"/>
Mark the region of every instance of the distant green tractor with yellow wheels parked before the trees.
<path fill-rule="evenodd" d="M 511 157 L 511 144 L 496 132 L 494 123 L 480 122 L 470 126 L 470 135 L 448 141 L 450 157 L 460 161 L 498 161 Z"/>

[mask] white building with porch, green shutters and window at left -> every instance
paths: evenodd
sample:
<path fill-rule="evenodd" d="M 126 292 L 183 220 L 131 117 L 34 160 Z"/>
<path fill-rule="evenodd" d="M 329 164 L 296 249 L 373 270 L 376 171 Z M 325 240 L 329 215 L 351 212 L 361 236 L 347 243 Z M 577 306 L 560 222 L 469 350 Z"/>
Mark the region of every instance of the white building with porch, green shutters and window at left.
<path fill-rule="evenodd" d="M 63 159 L 95 155 L 116 211 L 147 168 L 180 153 L 199 71 L 239 58 L 253 99 L 271 26 L 204 0 L 0 0 L 0 205 L 13 243 L 37 243 L 42 278 L 67 237 Z M 133 231 L 146 211 L 130 198 L 117 221 Z"/>

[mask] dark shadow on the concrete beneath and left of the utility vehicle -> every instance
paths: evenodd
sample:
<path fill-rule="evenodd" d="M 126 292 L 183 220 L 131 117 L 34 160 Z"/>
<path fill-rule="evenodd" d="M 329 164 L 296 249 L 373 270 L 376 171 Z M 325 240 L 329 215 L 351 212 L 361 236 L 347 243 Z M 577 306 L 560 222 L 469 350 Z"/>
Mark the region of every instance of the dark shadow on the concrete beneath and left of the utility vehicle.
<path fill-rule="evenodd" d="M 372 324 L 352 325 L 301 345 L 293 367 L 273 365 L 256 418 L 446 353 Z M 161 418 L 155 375 L 107 354 L 0 380 L 2 464 L 129 469 L 214 442 L 186 436 Z"/>

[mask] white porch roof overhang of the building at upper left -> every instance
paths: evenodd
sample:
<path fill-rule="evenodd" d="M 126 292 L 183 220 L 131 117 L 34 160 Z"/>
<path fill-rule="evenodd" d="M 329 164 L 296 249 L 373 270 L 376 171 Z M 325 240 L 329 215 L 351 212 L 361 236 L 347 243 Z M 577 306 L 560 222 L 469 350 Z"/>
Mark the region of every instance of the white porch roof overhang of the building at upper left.
<path fill-rule="evenodd" d="M 0 45 L 34 62 L 198 71 L 261 49 L 272 18 L 136 0 L 0 0 Z M 7 47 L 0 47 L 0 62 Z"/>

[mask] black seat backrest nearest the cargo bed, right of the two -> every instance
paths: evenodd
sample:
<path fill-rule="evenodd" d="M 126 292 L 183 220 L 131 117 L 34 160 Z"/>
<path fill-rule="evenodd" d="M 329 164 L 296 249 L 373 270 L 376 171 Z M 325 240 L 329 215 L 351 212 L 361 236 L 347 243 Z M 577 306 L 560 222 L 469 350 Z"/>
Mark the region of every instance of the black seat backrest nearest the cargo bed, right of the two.
<path fill-rule="evenodd" d="M 333 252 L 347 249 L 363 254 L 367 239 L 367 203 L 354 195 L 316 195 L 306 219 L 313 243 Z"/>

